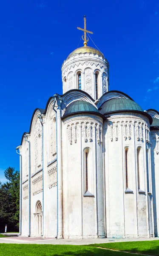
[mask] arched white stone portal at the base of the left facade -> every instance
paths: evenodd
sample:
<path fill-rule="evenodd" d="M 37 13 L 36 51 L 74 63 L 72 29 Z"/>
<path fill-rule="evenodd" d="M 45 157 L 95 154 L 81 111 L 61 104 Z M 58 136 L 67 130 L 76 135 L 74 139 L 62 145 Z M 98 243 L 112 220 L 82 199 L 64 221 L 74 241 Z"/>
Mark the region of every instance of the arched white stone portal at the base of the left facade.
<path fill-rule="evenodd" d="M 34 213 L 34 236 L 40 237 L 42 235 L 43 212 L 40 201 L 36 203 L 36 213 Z"/>

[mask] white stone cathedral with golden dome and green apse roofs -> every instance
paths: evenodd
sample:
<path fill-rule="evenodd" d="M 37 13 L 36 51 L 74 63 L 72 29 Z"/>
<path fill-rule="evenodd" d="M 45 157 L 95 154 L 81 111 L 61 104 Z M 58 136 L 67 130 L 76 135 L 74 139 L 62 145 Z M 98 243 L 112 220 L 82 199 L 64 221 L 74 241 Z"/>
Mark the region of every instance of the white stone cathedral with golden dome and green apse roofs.
<path fill-rule="evenodd" d="M 20 235 L 158 236 L 159 112 L 109 90 L 108 61 L 86 39 L 17 147 Z"/>

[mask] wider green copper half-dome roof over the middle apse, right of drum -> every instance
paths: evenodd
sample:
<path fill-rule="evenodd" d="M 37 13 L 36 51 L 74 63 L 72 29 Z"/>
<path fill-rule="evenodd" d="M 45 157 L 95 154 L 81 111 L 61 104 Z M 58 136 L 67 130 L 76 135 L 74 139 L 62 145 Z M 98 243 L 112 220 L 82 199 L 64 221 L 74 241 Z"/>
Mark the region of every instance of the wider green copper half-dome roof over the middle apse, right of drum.
<path fill-rule="evenodd" d="M 143 111 L 143 109 L 133 100 L 125 98 L 110 99 L 101 106 L 100 113 L 105 114 L 114 111 Z"/>

